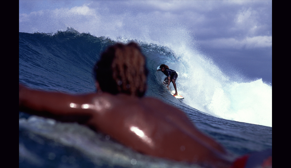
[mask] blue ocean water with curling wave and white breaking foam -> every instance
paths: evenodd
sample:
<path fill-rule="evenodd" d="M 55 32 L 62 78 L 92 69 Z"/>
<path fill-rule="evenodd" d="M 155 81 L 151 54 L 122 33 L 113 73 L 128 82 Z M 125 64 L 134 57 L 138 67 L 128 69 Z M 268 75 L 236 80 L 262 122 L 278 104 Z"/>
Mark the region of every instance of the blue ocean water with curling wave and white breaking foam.
<path fill-rule="evenodd" d="M 54 34 L 20 32 L 19 82 L 72 94 L 95 92 L 93 65 L 100 52 L 115 42 L 74 29 Z M 135 42 L 147 58 L 146 96 L 182 109 L 199 130 L 235 156 L 272 148 L 271 86 L 261 79 L 245 82 L 227 76 L 191 50 Z M 156 71 L 160 64 L 178 72 L 177 89 L 184 100 L 177 100 L 162 86 L 164 74 Z M 198 166 L 142 155 L 77 123 L 19 111 L 19 167 Z"/>

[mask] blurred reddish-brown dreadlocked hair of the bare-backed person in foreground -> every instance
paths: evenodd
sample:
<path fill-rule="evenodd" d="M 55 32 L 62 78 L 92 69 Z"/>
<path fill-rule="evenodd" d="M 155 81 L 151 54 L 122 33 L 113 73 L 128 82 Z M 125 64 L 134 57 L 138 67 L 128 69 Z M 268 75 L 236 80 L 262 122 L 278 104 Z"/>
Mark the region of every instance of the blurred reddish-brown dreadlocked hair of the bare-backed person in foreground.
<path fill-rule="evenodd" d="M 95 79 L 104 92 L 142 97 L 146 92 L 146 58 L 139 46 L 117 43 L 101 54 L 94 67 Z"/>

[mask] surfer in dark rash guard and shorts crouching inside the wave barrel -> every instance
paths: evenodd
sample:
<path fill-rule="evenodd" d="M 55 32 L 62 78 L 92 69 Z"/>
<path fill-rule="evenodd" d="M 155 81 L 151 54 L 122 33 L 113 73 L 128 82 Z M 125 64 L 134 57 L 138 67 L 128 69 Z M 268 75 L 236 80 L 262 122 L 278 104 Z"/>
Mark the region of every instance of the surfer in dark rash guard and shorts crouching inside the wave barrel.
<path fill-rule="evenodd" d="M 178 74 L 176 71 L 170 69 L 168 67 L 168 65 L 165 65 L 165 64 L 161 64 L 160 66 L 161 69 L 158 69 L 157 71 L 162 71 L 168 78 L 168 85 L 167 85 L 167 88 L 169 88 L 169 85 L 170 83 L 172 82 L 173 83 L 173 86 L 175 88 L 175 94 L 173 96 L 176 96 L 178 95 L 178 92 L 177 92 L 177 87 L 176 87 L 176 79 L 178 78 Z"/>

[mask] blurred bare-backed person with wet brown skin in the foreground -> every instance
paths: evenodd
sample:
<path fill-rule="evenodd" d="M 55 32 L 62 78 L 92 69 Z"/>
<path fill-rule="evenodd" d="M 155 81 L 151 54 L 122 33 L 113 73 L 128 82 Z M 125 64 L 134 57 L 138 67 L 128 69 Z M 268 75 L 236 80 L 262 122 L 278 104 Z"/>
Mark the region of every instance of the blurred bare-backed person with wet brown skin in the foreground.
<path fill-rule="evenodd" d="M 19 111 L 78 122 L 147 155 L 218 168 L 231 167 L 225 149 L 201 133 L 183 111 L 143 97 L 146 59 L 136 43 L 117 43 L 94 66 L 96 93 L 72 95 L 19 84 Z"/>

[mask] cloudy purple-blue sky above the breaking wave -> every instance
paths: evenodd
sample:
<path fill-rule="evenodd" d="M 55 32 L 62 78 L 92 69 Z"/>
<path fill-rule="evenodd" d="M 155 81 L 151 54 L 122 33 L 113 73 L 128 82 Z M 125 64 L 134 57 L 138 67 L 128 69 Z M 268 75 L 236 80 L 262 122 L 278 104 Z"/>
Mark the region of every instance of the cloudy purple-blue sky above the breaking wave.
<path fill-rule="evenodd" d="M 67 27 L 146 42 L 175 41 L 167 33 L 190 37 L 224 71 L 232 68 L 272 83 L 269 0 L 19 0 L 19 32 L 51 33 Z"/>

